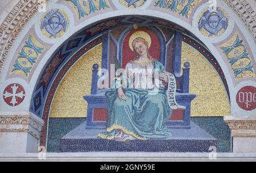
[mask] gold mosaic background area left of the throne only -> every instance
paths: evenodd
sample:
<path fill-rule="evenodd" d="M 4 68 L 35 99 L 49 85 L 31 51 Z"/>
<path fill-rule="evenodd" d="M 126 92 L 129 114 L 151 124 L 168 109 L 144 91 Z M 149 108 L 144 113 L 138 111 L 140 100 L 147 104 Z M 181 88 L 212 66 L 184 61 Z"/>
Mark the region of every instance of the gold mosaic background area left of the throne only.
<path fill-rule="evenodd" d="M 87 102 L 83 97 L 90 94 L 92 66 L 97 63 L 101 68 L 101 56 L 99 44 L 72 66 L 56 91 L 50 117 L 86 117 Z"/>

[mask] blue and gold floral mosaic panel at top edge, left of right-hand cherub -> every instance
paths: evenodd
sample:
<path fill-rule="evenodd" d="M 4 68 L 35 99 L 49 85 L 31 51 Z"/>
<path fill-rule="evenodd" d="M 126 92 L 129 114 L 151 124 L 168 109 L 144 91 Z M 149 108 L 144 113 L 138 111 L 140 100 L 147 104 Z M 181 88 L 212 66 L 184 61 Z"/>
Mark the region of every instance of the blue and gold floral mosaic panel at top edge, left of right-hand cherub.
<path fill-rule="evenodd" d="M 199 3 L 201 0 L 155 0 L 155 6 L 171 10 L 189 18 L 192 9 Z"/>

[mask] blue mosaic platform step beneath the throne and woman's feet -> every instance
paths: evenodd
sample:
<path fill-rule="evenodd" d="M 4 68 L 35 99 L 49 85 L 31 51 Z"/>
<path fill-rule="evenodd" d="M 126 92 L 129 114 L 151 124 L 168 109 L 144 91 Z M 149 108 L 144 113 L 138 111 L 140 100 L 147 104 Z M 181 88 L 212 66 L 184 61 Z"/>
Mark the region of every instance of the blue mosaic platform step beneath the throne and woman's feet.
<path fill-rule="evenodd" d="M 61 152 L 88 151 L 145 151 L 145 152 L 208 152 L 217 147 L 217 140 L 191 122 L 191 129 L 172 129 L 172 136 L 164 140 L 133 140 L 125 142 L 103 140 L 97 137 L 104 130 L 85 129 L 82 123 L 61 138 Z"/>

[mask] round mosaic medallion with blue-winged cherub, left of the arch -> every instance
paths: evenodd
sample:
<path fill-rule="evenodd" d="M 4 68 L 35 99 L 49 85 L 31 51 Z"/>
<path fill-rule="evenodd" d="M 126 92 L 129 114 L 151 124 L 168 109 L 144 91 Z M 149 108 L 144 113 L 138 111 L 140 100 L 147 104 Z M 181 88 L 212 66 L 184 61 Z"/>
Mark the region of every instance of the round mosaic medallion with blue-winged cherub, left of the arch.
<path fill-rule="evenodd" d="M 40 22 L 43 34 L 51 39 L 56 39 L 64 35 L 68 28 L 68 17 L 63 11 L 54 9 L 47 12 Z"/>

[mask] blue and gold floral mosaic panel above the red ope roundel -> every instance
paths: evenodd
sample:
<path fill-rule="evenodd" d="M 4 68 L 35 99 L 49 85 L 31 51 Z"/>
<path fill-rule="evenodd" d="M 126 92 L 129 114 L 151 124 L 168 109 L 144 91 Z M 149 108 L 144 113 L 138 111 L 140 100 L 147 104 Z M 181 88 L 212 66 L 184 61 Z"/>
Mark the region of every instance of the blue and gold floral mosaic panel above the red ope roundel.
<path fill-rule="evenodd" d="M 228 43 L 222 45 L 221 49 L 229 59 L 237 79 L 255 77 L 250 55 L 238 33 Z"/>

